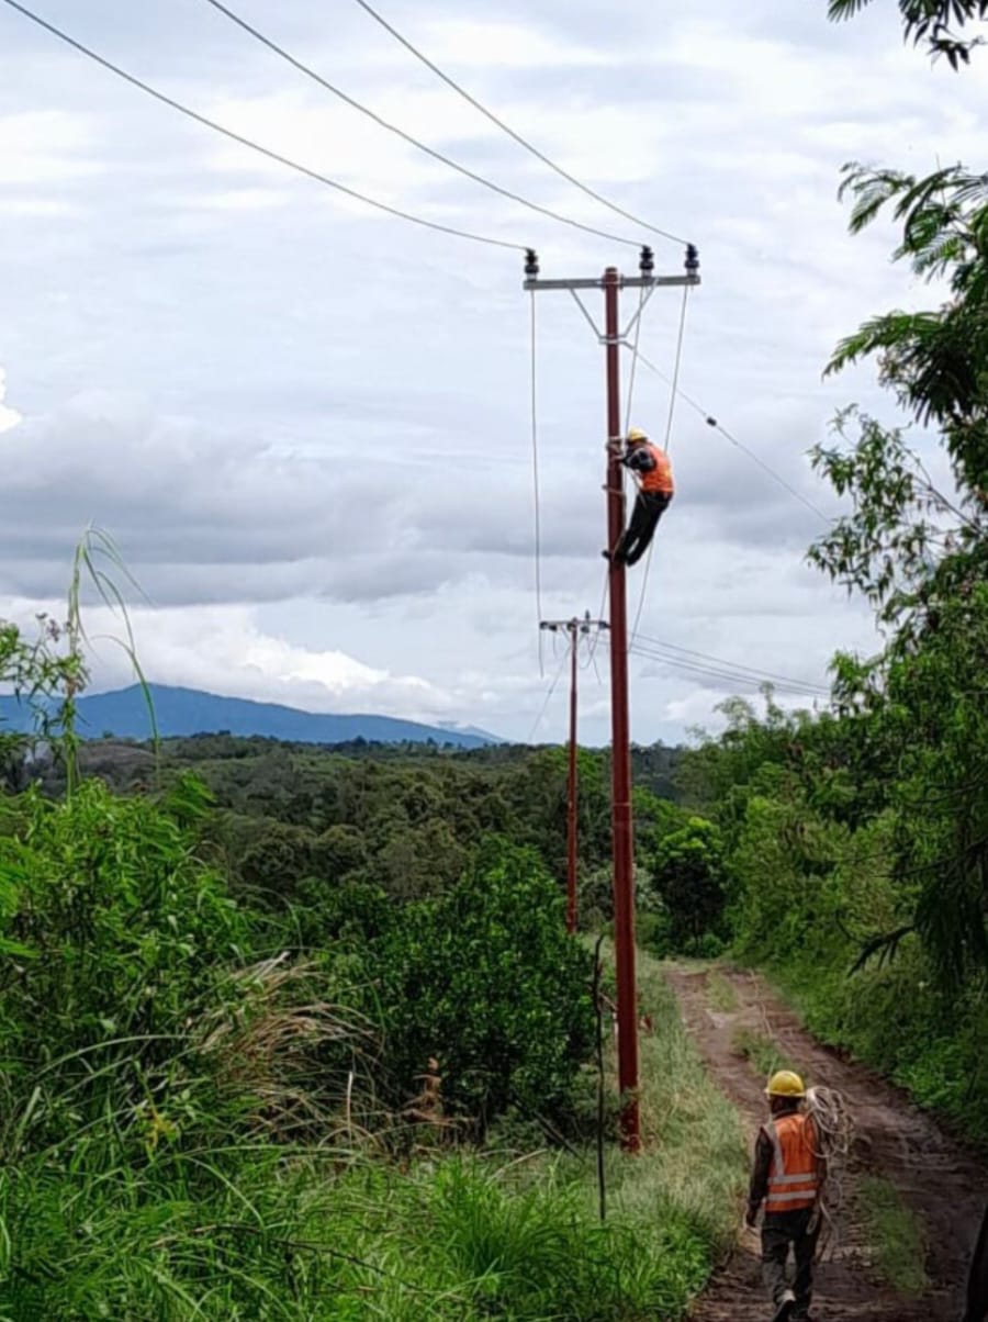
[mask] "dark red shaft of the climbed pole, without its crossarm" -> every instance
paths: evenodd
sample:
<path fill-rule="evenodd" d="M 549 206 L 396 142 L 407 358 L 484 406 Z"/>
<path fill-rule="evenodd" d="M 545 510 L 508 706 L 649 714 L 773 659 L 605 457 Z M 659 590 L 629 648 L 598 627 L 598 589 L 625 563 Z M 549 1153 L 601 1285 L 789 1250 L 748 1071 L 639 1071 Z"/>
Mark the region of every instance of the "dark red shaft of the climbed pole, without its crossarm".
<path fill-rule="evenodd" d="M 619 275 L 604 272 L 604 334 L 608 356 L 608 547 L 625 530 L 625 469 L 621 428 Z M 617 964 L 618 1085 L 625 1107 L 621 1140 L 642 1145 L 638 1108 L 638 1005 L 634 944 L 634 841 L 631 838 L 631 752 L 627 714 L 627 598 L 625 566 L 610 561 L 610 758 L 614 857 L 614 961 Z"/>

